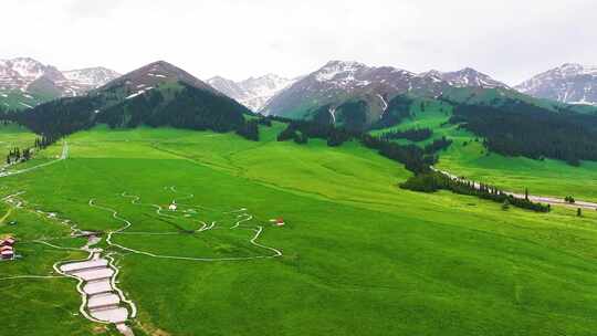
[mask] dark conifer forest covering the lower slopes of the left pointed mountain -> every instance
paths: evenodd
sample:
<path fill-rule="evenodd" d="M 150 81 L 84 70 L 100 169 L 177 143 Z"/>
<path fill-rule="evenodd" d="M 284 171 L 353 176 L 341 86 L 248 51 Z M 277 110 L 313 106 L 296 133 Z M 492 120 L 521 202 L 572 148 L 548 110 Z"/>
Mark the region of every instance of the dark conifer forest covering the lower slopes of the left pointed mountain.
<path fill-rule="evenodd" d="M 237 130 L 249 139 L 259 139 L 259 130 L 244 115 L 251 112 L 226 96 L 179 83 L 174 97 L 153 90 L 129 99 L 114 103 L 114 93 L 62 98 L 39 105 L 27 113 L 2 112 L 4 119 L 18 122 L 50 139 L 87 129 L 96 124 L 112 128 L 130 128 L 140 125 L 170 126 L 197 130 Z"/>

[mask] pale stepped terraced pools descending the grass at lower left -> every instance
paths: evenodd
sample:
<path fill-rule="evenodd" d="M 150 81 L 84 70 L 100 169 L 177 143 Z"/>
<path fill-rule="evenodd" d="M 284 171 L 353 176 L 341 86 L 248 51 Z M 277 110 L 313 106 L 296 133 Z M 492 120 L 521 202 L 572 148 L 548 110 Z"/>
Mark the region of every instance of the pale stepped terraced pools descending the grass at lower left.
<path fill-rule="evenodd" d="M 101 249 L 90 249 L 98 241 L 92 237 L 85 245 L 84 249 L 90 252 L 88 260 L 63 263 L 56 271 L 78 280 L 77 291 L 82 297 L 80 311 L 86 318 L 98 323 L 114 323 L 123 335 L 134 335 L 125 323 L 135 317 L 135 305 L 116 287 L 118 270 L 112 259 L 103 258 Z"/>

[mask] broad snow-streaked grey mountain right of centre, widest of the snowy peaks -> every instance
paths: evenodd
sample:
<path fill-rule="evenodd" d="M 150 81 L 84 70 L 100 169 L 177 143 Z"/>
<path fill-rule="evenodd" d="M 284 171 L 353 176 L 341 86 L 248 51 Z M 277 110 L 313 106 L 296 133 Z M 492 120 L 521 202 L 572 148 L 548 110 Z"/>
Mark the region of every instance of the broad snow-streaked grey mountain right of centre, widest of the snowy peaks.
<path fill-rule="evenodd" d="M 505 84 L 472 69 L 417 74 L 391 66 L 331 61 L 281 91 L 262 112 L 301 118 L 320 106 L 329 104 L 334 108 L 344 102 L 360 99 L 367 102 L 367 122 L 371 123 L 381 116 L 387 102 L 397 94 L 438 96 L 450 87 L 507 88 Z"/>

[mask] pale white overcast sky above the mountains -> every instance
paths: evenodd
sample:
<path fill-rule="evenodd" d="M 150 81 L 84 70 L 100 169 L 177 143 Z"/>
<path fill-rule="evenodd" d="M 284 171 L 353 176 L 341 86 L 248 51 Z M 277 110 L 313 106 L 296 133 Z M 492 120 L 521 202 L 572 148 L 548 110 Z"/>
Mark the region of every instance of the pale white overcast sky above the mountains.
<path fill-rule="evenodd" d="M 296 76 L 328 60 L 507 84 L 597 64 L 595 0 L 2 0 L 0 59 L 121 73 L 166 60 L 200 78 Z"/>

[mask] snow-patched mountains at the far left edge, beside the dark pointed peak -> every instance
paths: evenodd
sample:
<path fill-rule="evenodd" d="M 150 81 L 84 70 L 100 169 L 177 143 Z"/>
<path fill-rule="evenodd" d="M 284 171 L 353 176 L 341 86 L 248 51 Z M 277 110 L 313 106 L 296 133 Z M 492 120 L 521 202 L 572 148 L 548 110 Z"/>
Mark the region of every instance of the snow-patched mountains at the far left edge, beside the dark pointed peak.
<path fill-rule="evenodd" d="M 30 57 L 0 60 L 0 105 L 22 108 L 55 97 L 77 96 L 118 76 L 105 67 L 60 71 Z"/>

